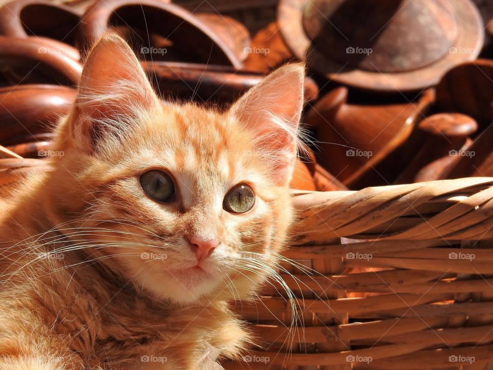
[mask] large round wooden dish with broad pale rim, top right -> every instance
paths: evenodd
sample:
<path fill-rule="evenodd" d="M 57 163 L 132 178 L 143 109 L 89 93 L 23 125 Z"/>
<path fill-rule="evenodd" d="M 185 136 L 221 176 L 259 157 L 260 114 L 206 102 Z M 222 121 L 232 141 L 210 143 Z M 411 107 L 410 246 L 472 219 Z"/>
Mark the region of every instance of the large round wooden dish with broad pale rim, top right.
<path fill-rule="evenodd" d="M 336 82 L 410 91 L 474 60 L 483 22 L 469 0 L 281 0 L 278 24 L 299 60 Z"/>

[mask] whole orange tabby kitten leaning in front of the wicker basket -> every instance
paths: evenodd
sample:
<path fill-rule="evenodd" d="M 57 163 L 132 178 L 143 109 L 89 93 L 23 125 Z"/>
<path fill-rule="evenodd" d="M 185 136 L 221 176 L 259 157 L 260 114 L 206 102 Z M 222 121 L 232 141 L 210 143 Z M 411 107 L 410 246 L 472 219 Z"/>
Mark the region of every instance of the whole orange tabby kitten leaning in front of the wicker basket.
<path fill-rule="evenodd" d="M 225 113 L 162 103 L 126 43 L 103 36 L 60 155 L 2 200 L 0 369 L 238 357 L 249 339 L 226 302 L 248 298 L 285 244 L 303 75 L 280 68 Z"/>

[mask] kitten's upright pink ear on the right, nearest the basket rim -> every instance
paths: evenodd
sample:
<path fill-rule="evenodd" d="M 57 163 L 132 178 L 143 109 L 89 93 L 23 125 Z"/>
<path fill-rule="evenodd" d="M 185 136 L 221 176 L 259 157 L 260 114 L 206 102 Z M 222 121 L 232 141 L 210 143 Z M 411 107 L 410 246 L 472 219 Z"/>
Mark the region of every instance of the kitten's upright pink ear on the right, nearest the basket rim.
<path fill-rule="evenodd" d="M 256 147 L 271 161 L 272 177 L 280 185 L 287 184 L 293 174 L 304 77 L 304 65 L 283 66 L 252 87 L 230 110 L 253 130 Z"/>

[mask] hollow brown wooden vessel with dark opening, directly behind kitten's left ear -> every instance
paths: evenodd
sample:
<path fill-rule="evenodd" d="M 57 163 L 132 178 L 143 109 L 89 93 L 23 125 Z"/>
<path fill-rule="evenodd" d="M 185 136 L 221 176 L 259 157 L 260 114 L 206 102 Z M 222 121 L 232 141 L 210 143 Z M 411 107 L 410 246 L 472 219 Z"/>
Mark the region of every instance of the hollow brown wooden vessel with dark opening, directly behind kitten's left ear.
<path fill-rule="evenodd" d="M 239 68 L 242 59 L 238 58 L 236 42 L 231 36 L 224 41 L 217 32 L 218 24 L 210 27 L 203 19 L 178 5 L 157 0 L 94 2 L 82 16 L 79 41 L 87 51 L 112 27 L 137 47 L 141 59 L 175 59 Z"/>

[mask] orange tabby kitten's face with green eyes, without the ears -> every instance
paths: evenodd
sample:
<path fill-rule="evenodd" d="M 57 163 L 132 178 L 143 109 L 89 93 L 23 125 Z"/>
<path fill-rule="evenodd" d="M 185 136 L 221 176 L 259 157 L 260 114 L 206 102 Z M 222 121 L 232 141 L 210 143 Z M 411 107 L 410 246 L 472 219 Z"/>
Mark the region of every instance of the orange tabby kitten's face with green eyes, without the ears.
<path fill-rule="evenodd" d="M 163 106 L 147 119 L 136 135 L 147 140 L 129 139 L 127 153 L 84 166 L 79 178 L 84 190 L 78 193 L 91 205 L 81 210 L 83 225 L 122 232 L 99 232 L 99 239 L 117 245 L 97 252 L 114 255 L 107 262 L 160 297 L 189 301 L 227 286 L 244 295 L 252 286 L 248 279 L 258 281 L 248 270 L 271 266 L 286 237 L 288 192 L 266 176 L 269 168 L 253 154 L 252 138 L 232 118 Z M 73 165 L 68 155 L 62 160 Z M 252 197 L 243 196 L 236 208 L 245 212 L 234 213 L 228 202 L 238 199 L 241 185 L 252 190 L 253 206 L 248 209 Z M 155 198 L 162 194 L 163 200 Z M 218 244 L 199 261 L 191 245 L 196 239 Z"/>

